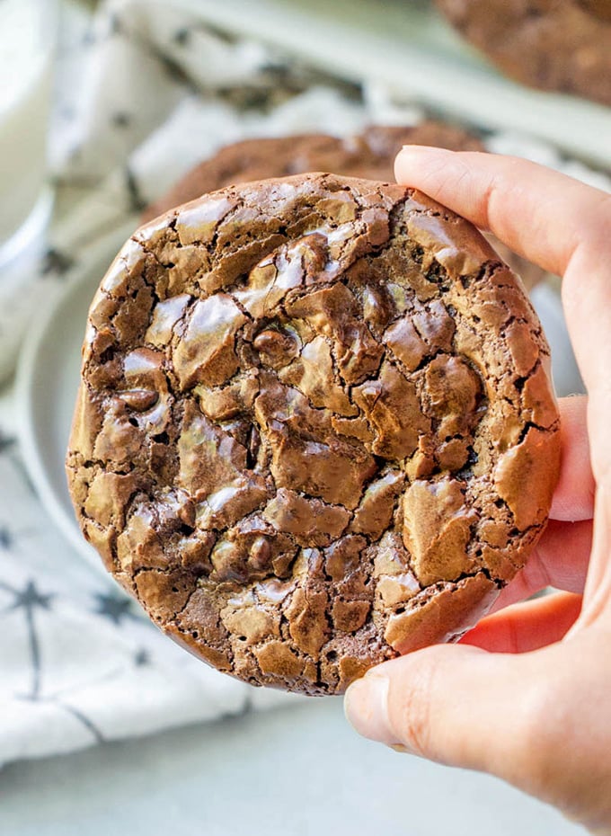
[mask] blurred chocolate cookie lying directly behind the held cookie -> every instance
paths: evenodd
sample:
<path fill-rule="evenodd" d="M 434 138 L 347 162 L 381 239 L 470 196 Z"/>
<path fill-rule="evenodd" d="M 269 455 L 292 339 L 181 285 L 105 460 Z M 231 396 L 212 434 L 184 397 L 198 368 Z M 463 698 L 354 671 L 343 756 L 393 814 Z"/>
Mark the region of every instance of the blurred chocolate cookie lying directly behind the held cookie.
<path fill-rule="evenodd" d="M 143 221 L 239 182 L 267 180 L 288 174 L 332 172 L 344 177 L 393 182 L 394 157 L 403 145 L 429 145 L 450 151 L 483 151 L 480 140 L 465 129 L 446 122 L 428 120 L 412 127 L 372 125 L 350 138 L 323 134 L 297 137 L 246 139 L 221 148 L 208 160 L 196 165 L 182 180 L 145 210 Z M 545 277 L 544 271 L 528 262 L 494 236 L 492 246 L 512 270 L 532 289 Z"/>

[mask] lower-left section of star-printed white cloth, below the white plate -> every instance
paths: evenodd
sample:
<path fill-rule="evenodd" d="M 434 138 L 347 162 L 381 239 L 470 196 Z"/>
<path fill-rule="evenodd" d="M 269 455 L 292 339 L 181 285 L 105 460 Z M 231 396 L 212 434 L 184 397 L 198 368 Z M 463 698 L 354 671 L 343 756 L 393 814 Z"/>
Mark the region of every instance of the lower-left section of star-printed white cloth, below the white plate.
<path fill-rule="evenodd" d="M 85 566 L 41 510 L 5 422 L 0 485 L 0 763 L 290 701 L 200 663 Z"/>

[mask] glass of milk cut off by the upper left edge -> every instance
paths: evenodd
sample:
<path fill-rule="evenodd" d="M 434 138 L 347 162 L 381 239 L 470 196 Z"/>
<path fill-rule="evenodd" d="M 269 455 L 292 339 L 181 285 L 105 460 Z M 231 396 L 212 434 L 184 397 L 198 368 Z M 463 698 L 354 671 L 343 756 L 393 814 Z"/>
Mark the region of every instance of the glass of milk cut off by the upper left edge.
<path fill-rule="evenodd" d="M 55 11 L 54 0 L 0 0 L 0 270 L 40 236 L 49 217 Z"/>

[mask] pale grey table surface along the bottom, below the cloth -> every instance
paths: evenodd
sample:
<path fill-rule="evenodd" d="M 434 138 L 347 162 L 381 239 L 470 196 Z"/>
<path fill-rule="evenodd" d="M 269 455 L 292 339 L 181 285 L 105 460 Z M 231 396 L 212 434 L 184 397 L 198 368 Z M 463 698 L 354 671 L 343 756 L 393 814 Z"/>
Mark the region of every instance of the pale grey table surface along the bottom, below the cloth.
<path fill-rule="evenodd" d="M 2 836 L 583 834 L 495 778 L 362 740 L 340 699 L 0 771 Z"/>

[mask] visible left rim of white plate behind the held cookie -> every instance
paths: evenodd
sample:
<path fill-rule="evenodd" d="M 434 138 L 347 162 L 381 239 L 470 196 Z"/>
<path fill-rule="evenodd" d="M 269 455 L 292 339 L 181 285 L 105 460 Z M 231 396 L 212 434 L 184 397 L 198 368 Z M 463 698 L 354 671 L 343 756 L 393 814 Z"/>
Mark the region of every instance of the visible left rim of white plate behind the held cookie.
<path fill-rule="evenodd" d="M 81 345 L 93 294 L 134 230 L 133 220 L 104 236 L 84 256 L 64 292 L 30 325 L 17 369 L 17 430 L 31 481 L 51 519 L 96 569 L 102 561 L 81 534 L 66 485 L 64 458 L 81 367 Z"/>

